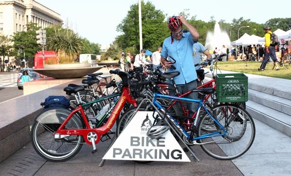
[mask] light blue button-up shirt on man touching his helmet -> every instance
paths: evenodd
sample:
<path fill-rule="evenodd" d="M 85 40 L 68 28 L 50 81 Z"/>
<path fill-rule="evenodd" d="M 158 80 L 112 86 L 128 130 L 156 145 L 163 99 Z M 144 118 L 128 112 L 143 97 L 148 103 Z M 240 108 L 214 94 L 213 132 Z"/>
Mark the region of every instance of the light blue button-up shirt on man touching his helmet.
<path fill-rule="evenodd" d="M 193 63 L 193 44 L 195 42 L 190 32 L 183 33 L 182 35 L 179 41 L 173 38 L 174 41 L 172 44 L 171 37 L 166 38 L 161 51 L 161 57 L 167 58 L 171 56 L 176 60 L 176 63 L 173 64 L 176 69 L 169 68 L 169 72 L 180 72 L 178 76 L 174 77 L 177 85 L 190 83 L 197 79 L 197 73 Z M 170 57 L 168 60 L 171 60 Z M 172 84 L 170 80 L 169 84 Z"/>

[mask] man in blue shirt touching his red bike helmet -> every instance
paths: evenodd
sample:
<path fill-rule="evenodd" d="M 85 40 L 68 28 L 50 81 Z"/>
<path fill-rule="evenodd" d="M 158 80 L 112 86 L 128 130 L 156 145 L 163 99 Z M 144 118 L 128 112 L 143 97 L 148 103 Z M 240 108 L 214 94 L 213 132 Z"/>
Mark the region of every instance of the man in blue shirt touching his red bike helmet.
<path fill-rule="evenodd" d="M 183 24 L 187 27 L 188 33 L 183 33 Z M 193 44 L 198 41 L 199 33 L 194 26 L 186 21 L 183 14 L 170 17 L 168 27 L 171 35 L 164 40 L 161 51 L 161 62 L 169 72 L 180 72 L 178 76 L 174 77 L 174 81 L 179 93 L 182 94 L 197 87 L 197 73 L 192 57 Z M 172 64 L 169 56 L 176 60 L 175 64 Z M 172 65 L 176 68 L 173 69 L 171 67 Z M 175 95 L 171 81 L 169 81 L 169 93 L 170 95 Z M 197 99 L 197 93 L 191 93 L 187 97 Z M 187 107 L 190 116 L 197 109 L 195 103 L 188 103 Z"/>

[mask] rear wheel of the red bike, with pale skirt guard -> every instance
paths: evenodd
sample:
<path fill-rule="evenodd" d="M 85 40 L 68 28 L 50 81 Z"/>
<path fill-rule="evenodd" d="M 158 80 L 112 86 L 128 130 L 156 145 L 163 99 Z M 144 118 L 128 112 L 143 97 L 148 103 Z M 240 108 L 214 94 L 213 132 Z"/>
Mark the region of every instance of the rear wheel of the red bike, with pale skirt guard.
<path fill-rule="evenodd" d="M 70 110 L 52 108 L 41 111 L 36 116 L 30 133 L 31 143 L 35 151 L 46 160 L 66 161 L 82 148 L 83 137 L 81 135 L 67 135 L 61 139 L 53 137 L 70 113 Z M 83 124 L 80 117 L 74 114 L 64 128 L 82 129 Z"/>

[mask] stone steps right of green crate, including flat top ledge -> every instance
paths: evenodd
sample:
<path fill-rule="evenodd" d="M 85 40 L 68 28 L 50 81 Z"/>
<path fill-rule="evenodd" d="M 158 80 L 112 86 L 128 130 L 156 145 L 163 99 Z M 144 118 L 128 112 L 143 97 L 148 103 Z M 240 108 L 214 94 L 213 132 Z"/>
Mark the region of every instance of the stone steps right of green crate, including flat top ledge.
<path fill-rule="evenodd" d="M 221 70 L 221 73 L 233 72 Z M 291 80 L 245 75 L 248 77 L 246 110 L 253 118 L 291 137 Z M 211 77 L 209 71 L 204 82 Z"/>

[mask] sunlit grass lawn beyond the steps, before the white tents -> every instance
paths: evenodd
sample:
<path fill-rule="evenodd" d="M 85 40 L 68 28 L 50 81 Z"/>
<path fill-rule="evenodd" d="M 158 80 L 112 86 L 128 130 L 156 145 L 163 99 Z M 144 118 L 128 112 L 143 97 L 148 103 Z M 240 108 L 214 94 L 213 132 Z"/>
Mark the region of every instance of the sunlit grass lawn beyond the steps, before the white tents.
<path fill-rule="evenodd" d="M 247 66 L 246 66 L 247 64 Z M 228 70 L 228 71 L 236 71 L 248 74 L 257 74 L 275 78 L 284 78 L 284 79 L 291 79 L 291 65 L 287 65 L 287 69 L 284 67 L 279 66 L 280 70 L 276 70 L 273 68 L 273 61 L 269 62 L 265 68 L 265 71 L 258 71 L 258 68 L 261 66 L 261 62 L 245 62 L 245 61 L 232 61 L 232 62 L 219 62 L 218 61 L 218 68 L 221 70 Z"/>

